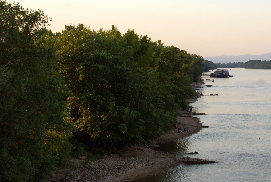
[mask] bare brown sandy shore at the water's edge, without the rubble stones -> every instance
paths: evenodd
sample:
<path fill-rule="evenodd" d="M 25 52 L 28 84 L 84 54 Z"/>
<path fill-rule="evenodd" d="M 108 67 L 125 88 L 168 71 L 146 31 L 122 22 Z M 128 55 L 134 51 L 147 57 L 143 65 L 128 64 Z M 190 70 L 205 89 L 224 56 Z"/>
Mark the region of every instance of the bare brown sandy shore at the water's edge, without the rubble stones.
<path fill-rule="evenodd" d="M 202 82 L 197 82 L 197 83 L 194 82 L 191 85 L 193 89 L 197 89 L 200 86 L 202 86 Z M 188 100 L 188 102 L 193 102 L 193 101 L 194 101 L 193 99 Z M 187 114 L 187 113 L 189 112 L 185 112 L 182 110 L 179 111 L 180 116 L 177 116 L 177 128 L 182 128 L 183 130 L 184 127 L 186 127 L 186 129 L 189 130 L 188 133 L 187 132 L 178 133 L 177 132 L 178 129 L 175 129 L 173 127 L 171 131 L 166 132 L 157 140 L 152 141 L 152 144 L 159 145 L 159 144 L 169 143 L 174 140 L 181 139 L 183 137 L 187 137 L 189 135 L 199 132 L 202 129 L 202 123 L 200 122 L 198 118 L 199 115 L 194 115 L 195 113 L 192 113 L 193 116 L 190 116 L 190 117 L 181 116 L 182 114 Z M 169 169 L 181 163 L 173 155 L 170 155 L 168 153 L 165 153 L 163 151 L 159 151 L 156 149 L 147 148 L 146 146 L 143 146 L 143 145 L 132 147 L 126 152 L 126 155 L 131 156 L 131 157 L 134 156 L 135 154 L 136 154 L 136 157 L 142 158 L 142 159 L 147 158 L 155 164 L 151 166 L 145 166 L 145 167 L 140 167 L 138 169 L 129 170 L 125 174 L 112 179 L 110 182 L 116 182 L 116 181 L 131 182 L 136 179 L 146 177 L 148 175 L 159 173 L 165 169 Z"/>

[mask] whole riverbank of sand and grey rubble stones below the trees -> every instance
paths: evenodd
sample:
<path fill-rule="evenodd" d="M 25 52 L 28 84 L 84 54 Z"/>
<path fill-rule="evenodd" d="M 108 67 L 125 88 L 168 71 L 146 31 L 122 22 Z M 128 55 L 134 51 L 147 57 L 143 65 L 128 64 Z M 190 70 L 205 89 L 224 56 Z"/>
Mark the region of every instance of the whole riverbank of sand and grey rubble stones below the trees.
<path fill-rule="evenodd" d="M 193 89 L 197 89 L 202 85 L 202 82 L 191 84 Z M 199 94 L 200 96 L 200 94 Z M 195 100 L 189 99 L 188 102 L 194 102 Z M 159 151 L 155 146 L 160 144 L 169 143 L 183 137 L 187 137 L 202 129 L 202 123 L 194 115 L 194 112 L 187 112 L 180 110 L 179 116 L 176 118 L 176 128 L 173 126 L 172 130 L 165 132 L 161 137 L 152 141 L 151 145 L 134 146 L 124 151 L 125 156 L 119 157 L 117 155 L 105 156 L 97 162 L 81 165 L 77 169 L 66 172 L 66 175 L 54 180 L 48 181 L 122 181 L 132 182 L 136 179 L 146 177 L 159 173 L 165 169 L 169 169 L 173 166 L 182 163 L 179 159 L 173 155 Z M 190 114 L 190 115 L 186 115 Z M 178 128 L 182 131 L 186 128 L 189 132 L 178 133 Z M 76 161 L 82 162 L 82 161 Z M 55 176 L 56 177 L 56 176 Z"/>

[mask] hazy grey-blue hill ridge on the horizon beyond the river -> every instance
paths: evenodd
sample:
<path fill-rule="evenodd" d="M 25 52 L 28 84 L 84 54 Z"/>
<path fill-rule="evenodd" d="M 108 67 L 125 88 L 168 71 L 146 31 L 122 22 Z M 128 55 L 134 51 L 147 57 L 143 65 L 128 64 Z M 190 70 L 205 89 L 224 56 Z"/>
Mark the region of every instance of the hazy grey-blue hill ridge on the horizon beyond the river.
<path fill-rule="evenodd" d="M 262 55 L 240 55 L 240 56 L 217 56 L 217 57 L 205 57 L 205 60 L 212 61 L 214 63 L 229 63 L 229 62 L 247 62 L 249 60 L 271 60 L 271 52 Z"/>

